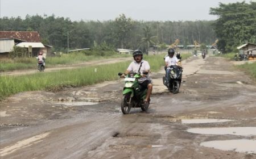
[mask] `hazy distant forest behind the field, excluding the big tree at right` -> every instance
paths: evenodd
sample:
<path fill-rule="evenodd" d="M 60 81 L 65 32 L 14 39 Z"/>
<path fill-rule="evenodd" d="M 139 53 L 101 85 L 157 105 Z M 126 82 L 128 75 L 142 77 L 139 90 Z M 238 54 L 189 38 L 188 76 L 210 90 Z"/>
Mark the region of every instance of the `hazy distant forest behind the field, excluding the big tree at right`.
<path fill-rule="evenodd" d="M 53 45 L 57 51 L 91 48 L 107 44 L 111 48 L 148 49 L 149 45 L 170 45 L 179 39 L 180 45 L 191 45 L 193 41 L 212 44 L 216 40 L 213 21 L 144 22 L 127 18 L 121 14 L 114 20 L 79 22 L 69 18 L 27 15 L 22 19 L 3 17 L 1 31 L 38 31 L 44 44 Z"/>

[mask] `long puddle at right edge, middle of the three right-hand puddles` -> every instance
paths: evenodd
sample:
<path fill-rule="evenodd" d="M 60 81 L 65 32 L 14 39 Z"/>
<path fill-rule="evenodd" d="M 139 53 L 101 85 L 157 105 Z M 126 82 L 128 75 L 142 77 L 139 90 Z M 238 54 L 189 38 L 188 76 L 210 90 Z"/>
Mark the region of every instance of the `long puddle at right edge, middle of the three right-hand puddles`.
<path fill-rule="evenodd" d="M 208 135 L 256 135 L 256 127 L 191 128 L 187 129 L 187 131 Z"/>

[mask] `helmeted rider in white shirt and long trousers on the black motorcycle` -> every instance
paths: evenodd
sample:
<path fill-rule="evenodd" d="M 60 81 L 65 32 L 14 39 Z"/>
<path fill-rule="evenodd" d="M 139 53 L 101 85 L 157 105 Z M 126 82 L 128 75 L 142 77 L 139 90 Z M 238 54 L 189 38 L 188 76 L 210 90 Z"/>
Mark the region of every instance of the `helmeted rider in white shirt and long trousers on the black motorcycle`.
<path fill-rule="evenodd" d="M 181 65 L 178 63 L 179 59 L 177 59 L 176 56 L 174 56 L 175 50 L 173 48 L 168 49 L 168 56 L 164 59 L 164 61 L 166 62 L 166 86 L 169 85 L 169 81 L 170 81 L 170 73 L 171 73 L 171 69 L 170 66 L 172 65 L 177 65 L 180 66 Z"/>

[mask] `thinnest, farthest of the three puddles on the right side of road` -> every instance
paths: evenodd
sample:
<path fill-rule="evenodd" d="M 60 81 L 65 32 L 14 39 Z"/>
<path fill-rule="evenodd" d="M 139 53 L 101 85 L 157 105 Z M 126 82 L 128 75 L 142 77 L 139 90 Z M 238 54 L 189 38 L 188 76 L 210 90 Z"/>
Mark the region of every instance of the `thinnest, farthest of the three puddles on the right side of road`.
<path fill-rule="evenodd" d="M 231 122 L 234 120 L 229 119 L 181 119 L 183 124 L 203 124 L 203 123 L 220 123 L 220 122 Z"/>

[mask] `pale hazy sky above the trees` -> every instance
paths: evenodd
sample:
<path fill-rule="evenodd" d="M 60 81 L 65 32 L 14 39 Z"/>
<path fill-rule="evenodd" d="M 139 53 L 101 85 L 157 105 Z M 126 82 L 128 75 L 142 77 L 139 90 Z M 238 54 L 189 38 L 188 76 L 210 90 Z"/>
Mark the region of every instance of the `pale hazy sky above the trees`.
<path fill-rule="evenodd" d="M 253 0 L 256 1 L 256 0 Z M 119 14 L 135 20 L 213 20 L 210 7 L 240 0 L 0 0 L 0 16 L 52 15 L 73 20 L 110 20 Z M 250 0 L 246 0 L 247 3 Z"/>

